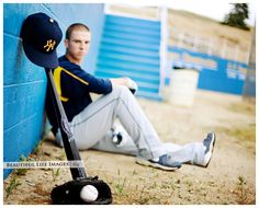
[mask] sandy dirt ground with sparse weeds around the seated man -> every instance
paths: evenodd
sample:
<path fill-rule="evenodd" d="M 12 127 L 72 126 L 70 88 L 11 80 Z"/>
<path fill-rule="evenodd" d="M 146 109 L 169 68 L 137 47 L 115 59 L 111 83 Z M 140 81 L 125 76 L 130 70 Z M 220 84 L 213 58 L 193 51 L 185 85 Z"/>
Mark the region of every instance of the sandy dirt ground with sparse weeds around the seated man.
<path fill-rule="evenodd" d="M 207 169 L 184 164 L 174 172 L 135 163 L 134 157 L 80 151 L 88 175 L 99 175 L 115 205 L 256 204 L 256 106 L 240 96 L 198 91 L 192 107 L 138 99 L 162 141 L 184 145 L 216 132 Z M 31 159 L 65 160 L 65 152 L 45 139 Z M 4 205 L 46 205 L 55 185 L 71 180 L 68 169 L 13 172 L 3 184 Z"/>

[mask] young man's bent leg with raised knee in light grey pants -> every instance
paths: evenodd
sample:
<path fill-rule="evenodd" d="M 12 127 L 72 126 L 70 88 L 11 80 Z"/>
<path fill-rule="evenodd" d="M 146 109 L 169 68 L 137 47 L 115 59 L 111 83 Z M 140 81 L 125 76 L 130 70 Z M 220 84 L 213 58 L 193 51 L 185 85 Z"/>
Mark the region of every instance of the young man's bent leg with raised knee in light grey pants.
<path fill-rule="evenodd" d="M 138 154 L 147 160 L 166 153 L 157 132 L 126 86 L 114 88 L 77 115 L 71 130 L 79 149 L 95 146 L 119 118 L 133 138 Z"/>

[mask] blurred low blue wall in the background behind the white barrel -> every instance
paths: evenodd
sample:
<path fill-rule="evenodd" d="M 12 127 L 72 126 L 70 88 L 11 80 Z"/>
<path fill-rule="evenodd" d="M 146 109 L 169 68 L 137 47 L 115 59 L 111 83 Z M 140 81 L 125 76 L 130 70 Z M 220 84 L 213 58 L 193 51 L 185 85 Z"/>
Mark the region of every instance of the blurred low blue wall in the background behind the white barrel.
<path fill-rule="evenodd" d="M 217 56 L 169 47 L 174 57 L 171 67 L 191 68 L 200 71 L 199 89 L 241 94 L 248 66 L 244 62 Z"/>

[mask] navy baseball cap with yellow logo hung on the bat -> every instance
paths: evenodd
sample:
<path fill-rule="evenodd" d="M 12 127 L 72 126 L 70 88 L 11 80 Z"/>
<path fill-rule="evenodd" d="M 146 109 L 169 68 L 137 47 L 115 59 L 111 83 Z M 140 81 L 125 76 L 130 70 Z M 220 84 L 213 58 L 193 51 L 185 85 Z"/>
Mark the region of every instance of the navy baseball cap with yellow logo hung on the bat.
<path fill-rule="evenodd" d="M 58 67 L 56 48 L 63 33 L 54 19 L 42 12 L 29 15 L 23 22 L 21 38 L 32 62 L 44 68 Z"/>

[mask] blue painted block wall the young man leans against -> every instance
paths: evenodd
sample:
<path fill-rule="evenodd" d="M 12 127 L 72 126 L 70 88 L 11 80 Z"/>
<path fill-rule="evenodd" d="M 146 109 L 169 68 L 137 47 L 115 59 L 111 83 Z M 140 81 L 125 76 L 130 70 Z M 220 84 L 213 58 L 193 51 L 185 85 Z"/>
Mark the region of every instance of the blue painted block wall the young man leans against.
<path fill-rule="evenodd" d="M 83 67 L 95 70 L 103 24 L 103 4 L 3 4 L 3 160 L 27 157 L 42 138 L 46 92 L 45 71 L 25 57 L 20 39 L 24 19 L 36 12 L 53 16 L 64 32 L 75 22 L 87 24 L 92 32 L 91 50 Z M 64 44 L 58 46 L 63 55 Z M 4 178 L 11 170 L 4 170 Z"/>

